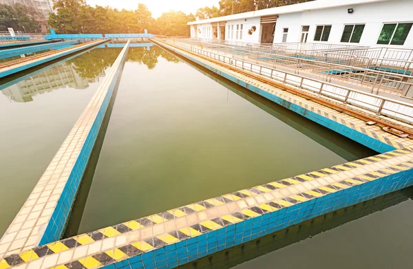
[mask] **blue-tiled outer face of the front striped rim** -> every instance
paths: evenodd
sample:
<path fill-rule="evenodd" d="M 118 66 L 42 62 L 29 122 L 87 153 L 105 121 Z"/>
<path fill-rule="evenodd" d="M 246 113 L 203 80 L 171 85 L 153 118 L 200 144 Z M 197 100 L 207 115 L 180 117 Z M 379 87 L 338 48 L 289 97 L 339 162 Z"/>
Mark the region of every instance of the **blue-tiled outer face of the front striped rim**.
<path fill-rule="evenodd" d="M 176 268 L 185 263 L 237 246 L 288 226 L 336 211 L 346 206 L 398 191 L 413 184 L 413 169 L 381 177 L 335 193 L 266 213 L 103 266 L 105 269 Z"/>

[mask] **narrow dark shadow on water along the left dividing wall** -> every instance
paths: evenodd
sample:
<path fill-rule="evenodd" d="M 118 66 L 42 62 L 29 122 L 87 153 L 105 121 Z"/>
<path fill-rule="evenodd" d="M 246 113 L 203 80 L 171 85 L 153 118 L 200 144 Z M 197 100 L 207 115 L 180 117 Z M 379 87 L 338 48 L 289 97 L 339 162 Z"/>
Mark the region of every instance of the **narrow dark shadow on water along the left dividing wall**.
<path fill-rule="evenodd" d="M 103 141 L 105 140 L 107 126 L 109 125 L 109 120 L 110 120 L 110 116 L 112 115 L 112 110 L 114 108 L 116 95 L 118 94 L 118 87 L 120 83 L 120 78 L 122 78 L 122 73 L 123 72 L 121 70 L 120 75 L 118 76 L 118 79 L 116 80 L 116 85 L 114 88 L 114 92 L 112 94 L 112 98 L 107 107 L 107 111 L 106 111 L 105 117 L 103 118 L 102 125 L 100 126 L 100 130 L 98 132 L 96 142 L 92 149 L 89 162 L 87 162 L 86 170 L 81 180 L 81 186 L 79 186 L 79 191 L 76 195 L 74 204 L 72 206 L 72 213 L 70 214 L 69 219 L 67 219 L 67 226 L 65 228 L 65 233 L 63 234 L 63 238 L 72 237 L 78 234 L 79 226 L 81 225 L 83 211 L 85 210 L 87 196 L 89 195 L 89 190 L 90 190 L 90 186 L 92 186 L 92 181 L 94 177 L 94 172 L 96 170 L 96 165 L 98 164 L 100 150 L 102 149 Z"/>

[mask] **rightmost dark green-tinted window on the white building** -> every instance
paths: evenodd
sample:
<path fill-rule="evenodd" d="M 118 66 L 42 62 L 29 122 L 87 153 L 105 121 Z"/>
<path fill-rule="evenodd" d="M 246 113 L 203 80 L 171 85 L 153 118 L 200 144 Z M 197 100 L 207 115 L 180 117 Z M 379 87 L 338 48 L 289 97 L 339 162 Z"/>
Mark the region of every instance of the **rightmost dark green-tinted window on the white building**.
<path fill-rule="evenodd" d="M 377 44 L 403 45 L 413 23 L 385 23 Z"/>

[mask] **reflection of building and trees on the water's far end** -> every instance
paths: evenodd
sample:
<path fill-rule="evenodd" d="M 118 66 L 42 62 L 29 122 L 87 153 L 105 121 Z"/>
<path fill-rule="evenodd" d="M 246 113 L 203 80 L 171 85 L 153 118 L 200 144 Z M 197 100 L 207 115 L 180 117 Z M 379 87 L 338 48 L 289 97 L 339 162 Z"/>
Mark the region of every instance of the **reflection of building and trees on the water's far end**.
<path fill-rule="evenodd" d="M 86 89 L 89 87 L 89 83 L 100 82 L 100 79 L 105 76 L 105 69 L 114 63 L 120 48 L 123 46 L 123 44 L 110 45 L 119 46 L 109 46 L 105 50 L 90 50 L 81 57 L 74 57 L 68 61 L 63 61 L 29 78 L 17 79 L 13 85 L 6 87 L 1 92 L 10 101 L 26 103 L 32 102 L 34 96 L 52 92 L 56 89 L 67 87 Z M 151 47 L 151 45 L 147 44 L 143 47 L 131 47 L 127 61 L 140 63 L 146 65 L 148 69 L 153 69 L 156 67 L 156 63 L 158 63 L 158 56 L 162 56 L 167 61 L 175 63 L 179 61 L 178 58 L 161 50 L 159 47 Z M 24 77 L 27 76 L 22 78 Z"/>

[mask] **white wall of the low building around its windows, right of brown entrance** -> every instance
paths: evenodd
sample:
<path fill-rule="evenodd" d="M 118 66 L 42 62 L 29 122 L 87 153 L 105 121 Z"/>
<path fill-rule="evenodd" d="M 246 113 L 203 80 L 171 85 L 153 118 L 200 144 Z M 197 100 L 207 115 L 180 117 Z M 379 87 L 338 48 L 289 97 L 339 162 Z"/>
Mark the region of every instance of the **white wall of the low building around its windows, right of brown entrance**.
<path fill-rule="evenodd" d="M 353 8 L 354 13 L 348 14 L 347 9 Z M 299 42 L 301 25 L 310 25 L 307 42 L 340 43 L 345 24 L 365 23 L 359 45 L 377 45 L 377 39 L 383 23 L 412 22 L 413 1 L 394 0 L 364 5 L 343 6 L 324 10 L 309 10 L 298 13 L 280 14 L 275 27 L 274 43 L 282 42 L 283 28 L 288 28 L 287 42 Z M 314 41 L 317 25 L 332 25 L 328 42 Z M 348 43 L 353 44 L 354 43 Z M 413 29 L 403 46 L 388 45 L 389 47 L 413 47 Z"/>

